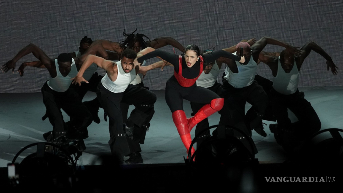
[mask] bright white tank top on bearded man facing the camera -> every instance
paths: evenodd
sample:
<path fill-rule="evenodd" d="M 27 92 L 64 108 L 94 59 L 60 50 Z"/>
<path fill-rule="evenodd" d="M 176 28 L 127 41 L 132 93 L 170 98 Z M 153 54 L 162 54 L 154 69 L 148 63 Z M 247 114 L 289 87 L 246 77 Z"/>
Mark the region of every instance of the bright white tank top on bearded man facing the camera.
<path fill-rule="evenodd" d="M 118 67 L 117 79 L 115 81 L 111 81 L 106 73 L 103 79 L 101 79 L 101 83 L 107 90 L 115 93 L 120 93 L 124 92 L 125 89 L 128 88 L 130 82 L 134 80 L 134 78 L 136 77 L 136 70 L 132 69 L 130 73 L 125 73 L 125 71 L 121 67 L 121 61 L 117 61 L 116 64 Z"/>

